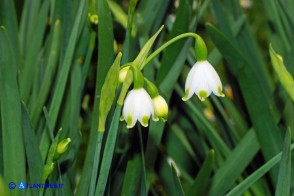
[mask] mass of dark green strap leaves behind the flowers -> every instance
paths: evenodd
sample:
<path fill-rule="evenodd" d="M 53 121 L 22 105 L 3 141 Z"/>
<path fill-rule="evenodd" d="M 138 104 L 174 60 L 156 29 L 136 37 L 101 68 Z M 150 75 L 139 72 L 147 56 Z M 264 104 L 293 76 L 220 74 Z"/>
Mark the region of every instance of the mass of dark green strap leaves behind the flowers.
<path fill-rule="evenodd" d="M 292 8 L 291 0 L 0 0 L 0 195 L 293 194 Z M 133 61 L 161 25 L 151 50 L 200 34 L 226 97 L 182 102 L 196 62 L 194 40 L 182 39 L 144 69 L 169 102 L 168 121 L 127 130 L 114 105 L 99 140 L 114 57 Z M 65 138 L 68 151 L 53 159 Z M 8 189 L 21 181 L 64 186 Z"/>

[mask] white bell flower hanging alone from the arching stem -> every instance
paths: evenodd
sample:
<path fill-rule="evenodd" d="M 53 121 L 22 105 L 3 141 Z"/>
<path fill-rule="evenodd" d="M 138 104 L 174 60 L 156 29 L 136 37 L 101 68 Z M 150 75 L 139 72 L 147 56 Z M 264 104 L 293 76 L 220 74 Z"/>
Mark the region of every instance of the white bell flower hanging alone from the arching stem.
<path fill-rule="evenodd" d="M 212 65 L 207 61 L 198 61 L 190 70 L 186 85 L 184 101 L 190 99 L 195 93 L 201 101 L 204 101 L 211 92 L 223 97 L 222 83 Z"/>

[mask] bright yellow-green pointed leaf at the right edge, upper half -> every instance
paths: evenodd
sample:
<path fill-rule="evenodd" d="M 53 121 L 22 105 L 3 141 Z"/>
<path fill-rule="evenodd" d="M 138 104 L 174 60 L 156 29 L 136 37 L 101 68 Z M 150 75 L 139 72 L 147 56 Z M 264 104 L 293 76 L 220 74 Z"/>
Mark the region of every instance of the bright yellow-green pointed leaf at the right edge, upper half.
<path fill-rule="evenodd" d="M 291 97 L 292 101 L 294 101 L 294 80 L 291 74 L 287 71 L 283 58 L 275 52 L 272 45 L 270 45 L 269 49 L 271 62 L 274 67 L 274 70 L 278 76 L 279 81 L 282 86 L 285 88 L 286 92 Z"/>

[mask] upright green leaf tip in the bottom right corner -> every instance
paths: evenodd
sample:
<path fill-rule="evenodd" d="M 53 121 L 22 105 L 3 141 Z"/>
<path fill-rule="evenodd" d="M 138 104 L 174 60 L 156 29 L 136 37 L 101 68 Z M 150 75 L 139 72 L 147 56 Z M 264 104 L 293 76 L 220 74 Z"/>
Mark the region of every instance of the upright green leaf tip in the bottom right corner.
<path fill-rule="evenodd" d="M 285 134 L 284 147 L 280 163 L 278 184 L 275 195 L 290 195 L 291 190 L 291 130 Z"/>

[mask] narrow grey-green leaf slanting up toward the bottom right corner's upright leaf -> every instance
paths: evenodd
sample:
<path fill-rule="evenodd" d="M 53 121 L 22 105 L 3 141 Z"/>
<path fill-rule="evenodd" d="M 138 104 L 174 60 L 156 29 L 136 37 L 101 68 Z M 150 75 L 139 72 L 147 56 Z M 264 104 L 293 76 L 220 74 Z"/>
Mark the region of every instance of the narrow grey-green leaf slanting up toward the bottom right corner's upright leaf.
<path fill-rule="evenodd" d="M 291 150 L 294 149 L 294 144 L 291 145 Z M 253 172 L 250 176 L 248 176 L 245 180 L 243 180 L 240 184 L 238 184 L 235 188 L 233 188 L 227 196 L 237 196 L 245 192 L 249 189 L 258 179 L 260 179 L 264 174 L 266 174 L 272 167 L 274 167 L 282 157 L 282 153 L 280 152 L 276 156 L 272 157 L 269 161 L 259 167 L 255 172 Z"/>

